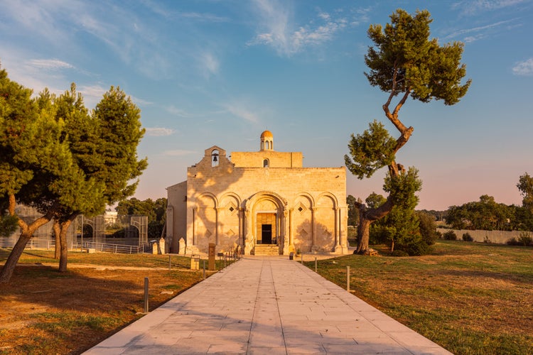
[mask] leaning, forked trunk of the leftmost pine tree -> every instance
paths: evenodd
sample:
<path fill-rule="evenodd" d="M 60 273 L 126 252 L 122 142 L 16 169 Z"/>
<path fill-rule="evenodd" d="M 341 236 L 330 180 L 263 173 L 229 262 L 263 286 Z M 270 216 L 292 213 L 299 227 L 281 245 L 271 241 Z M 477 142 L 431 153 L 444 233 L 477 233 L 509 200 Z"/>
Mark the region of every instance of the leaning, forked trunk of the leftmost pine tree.
<path fill-rule="evenodd" d="M 9 195 L 9 214 L 11 214 L 11 216 L 18 217 L 15 214 L 15 206 L 15 196 Z M 24 222 L 22 219 L 18 219 L 18 226 L 20 226 L 22 229 L 21 236 L 18 237 L 18 241 L 16 241 L 11 253 L 9 253 L 6 263 L 4 264 L 4 268 L 2 268 L 0 271 L 0 283 L 9 283 L 9 280 L 11 280 L 11 276 L 13 276 L 13 272 L 15 271 L 16 263 L 18 263 L 18 259 L 21 258 L 21 255 L 26 248 L 26 244 L 28 244 L 28 241 L 30 241 L 33 233 L 40 226 L 50 222 L 50 219 L 52 219 L 51 212 L 48 212 L 43 217 L 36 219 L 29 225 L 26 224 L 26 222 Z"/>

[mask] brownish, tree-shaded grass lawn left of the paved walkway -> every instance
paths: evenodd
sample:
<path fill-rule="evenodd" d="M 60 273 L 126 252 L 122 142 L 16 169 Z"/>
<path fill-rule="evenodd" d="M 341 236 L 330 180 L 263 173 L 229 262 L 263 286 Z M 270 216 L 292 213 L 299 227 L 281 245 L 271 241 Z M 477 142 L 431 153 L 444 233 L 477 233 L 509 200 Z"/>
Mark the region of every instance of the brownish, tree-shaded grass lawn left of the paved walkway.
<path fill-rule="evenodd" d="M 0 249 L 0 266 L 9 256 Z M 203 279 L 190 259 L 79 253 L 58 272 L 53 251 L 27 250 L 8 285 L 0 285 L 0 354 L 80 354 Z M 201 264 L 200 264 L 201 268 Z"/>

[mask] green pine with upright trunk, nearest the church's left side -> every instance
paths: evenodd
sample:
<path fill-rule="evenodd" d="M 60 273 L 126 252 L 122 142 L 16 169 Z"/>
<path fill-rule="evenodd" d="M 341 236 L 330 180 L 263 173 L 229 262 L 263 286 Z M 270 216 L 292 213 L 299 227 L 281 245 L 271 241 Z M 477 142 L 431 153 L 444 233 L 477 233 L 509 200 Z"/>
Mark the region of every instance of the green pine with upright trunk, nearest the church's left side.
<path fill-rule="evenodd" d="M 70 194 L 61 195 L 62 208 L 55 217 L 60 226 L 60 271 L 64 272 L 66 235 L 72 221 L 79 214 L 102 213 L 106 204 L 133 195 L 147 161 L 146 158 L 138 160 L 137 155 L 137 146 L 144 135 L 141 111 L 120 88 L 111 87 L 104 94 L 92 117 L 86 114 L 74 84 L 70 93 L 65 92 L 59 98 L 58 107 L 60 115 L 70 123 L 65 133 L 79 172 L 68 180 Z"/>

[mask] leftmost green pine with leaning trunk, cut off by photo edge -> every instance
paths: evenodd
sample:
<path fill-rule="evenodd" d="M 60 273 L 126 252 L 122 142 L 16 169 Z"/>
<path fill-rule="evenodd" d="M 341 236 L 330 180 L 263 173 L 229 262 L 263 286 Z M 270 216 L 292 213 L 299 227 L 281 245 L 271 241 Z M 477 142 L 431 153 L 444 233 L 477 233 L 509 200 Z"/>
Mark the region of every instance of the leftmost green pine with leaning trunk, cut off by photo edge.
<path fill-rule="evenodd" d="M 6 70 L 0 70 L 0 198 L 21 229 L 0 272 L 0 283 L 9 282 L 33 233 L 53 218 L 58 205 L 50 195 L 58 186 L 52 183 L 72 165 L 61 135 L 64 122 L 50 119 L 50 111 L 38 107 L 31 94 L 31 89 L 12 82 Z M 18 218 L 17 202 L 37 207 L 43 216 L 28 222 Z"/>

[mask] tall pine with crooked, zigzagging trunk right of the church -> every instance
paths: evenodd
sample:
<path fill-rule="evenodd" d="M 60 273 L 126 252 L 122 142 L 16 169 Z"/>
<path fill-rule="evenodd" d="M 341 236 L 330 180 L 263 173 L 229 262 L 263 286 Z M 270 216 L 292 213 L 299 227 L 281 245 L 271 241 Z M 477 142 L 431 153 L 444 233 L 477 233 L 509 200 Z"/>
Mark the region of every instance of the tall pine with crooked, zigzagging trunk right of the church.
<path fill-rule="evenodd" d="M 444 104 L 452 105 L 459 102 L 470 86 L 470 80 L 461 84 L 466 73 L 465 65 L 461 64 L 463 44 L 456 42 L 441 46 L 436 39 L 429 39 L 431 18 L 428 11 L 416 11 L 416 15 L 411 16 L 398 9 L 390 18 L 391 23 L 384 28 L 371 25 L 367 32 L 375 46 L 365 55 L 365 63 L 370 68 L 365 75 L 372 86 L 389 94 L 382 108 L 399 131 L 399 137 L 393 140 L 376 121 L 362 135 L 352 135 L 348 144 L 351 157 L 345 155 L 345 163 L 360 179 L 370 178 L 385 166 L 390 180 L 405 173 L 404 167 L 396 162 L 395 154 L 409 141 L 414 130 L 405 126 L 398 116 L 409 97 L 420 102 L 443 100 Z M 391 111 L 395 97 L 399 97 L 399 101 Z M 360 228 L 355 253 L 367 251 L 370 224 L 391 212 L 400 202 L 397 197 L 399 195 L 394 191 L 389 192 L 387 202 L 377 209 L 362 203 L 358 205 Z"/>

